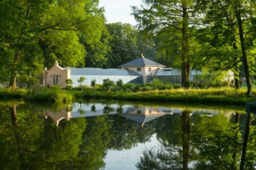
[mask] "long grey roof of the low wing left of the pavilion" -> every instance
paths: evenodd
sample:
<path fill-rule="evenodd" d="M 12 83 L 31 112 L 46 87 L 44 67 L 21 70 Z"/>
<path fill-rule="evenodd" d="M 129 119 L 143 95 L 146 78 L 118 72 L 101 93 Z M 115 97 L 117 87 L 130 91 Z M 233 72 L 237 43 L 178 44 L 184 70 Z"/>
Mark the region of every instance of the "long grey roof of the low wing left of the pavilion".
<path fill-rule="evenodd" d="M 139 76 L 133 70 L 124 69 L 99 69 L 99 68 L 69 68 L 71 70 L 71 75 L 118 75 L 118 76 Z"/>

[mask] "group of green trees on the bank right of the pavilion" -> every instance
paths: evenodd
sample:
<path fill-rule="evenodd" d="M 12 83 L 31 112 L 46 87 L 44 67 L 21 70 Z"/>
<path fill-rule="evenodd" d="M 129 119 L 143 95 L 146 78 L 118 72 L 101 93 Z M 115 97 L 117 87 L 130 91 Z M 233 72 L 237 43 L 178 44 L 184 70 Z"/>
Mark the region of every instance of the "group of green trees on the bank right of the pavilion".
<path fill-rule="evenodd" d="M 232 70 L 239 88 L 240 70 L 247 95 L 255 73 L 255 1 L 145 0 L 133 7 L 139 29 L 162 36 L 162 49 L 179 53 L 181 86 L 189 81 L 190 68 Z M 172 51 L 174 49 L 179 49 Z M 241 69 L 242 67 L 242 69 Z"/>

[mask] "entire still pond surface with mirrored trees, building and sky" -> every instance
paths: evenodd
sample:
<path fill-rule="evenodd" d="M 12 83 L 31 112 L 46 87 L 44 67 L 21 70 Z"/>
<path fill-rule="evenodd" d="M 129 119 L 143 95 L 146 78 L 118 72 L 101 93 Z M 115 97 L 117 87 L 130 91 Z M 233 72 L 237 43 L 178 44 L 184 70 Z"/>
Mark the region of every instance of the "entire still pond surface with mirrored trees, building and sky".
<path fill-rule="evenodd" d="M 0 169 L 255 169 L 255 114 L 219 105 L 0 103 Z"/>

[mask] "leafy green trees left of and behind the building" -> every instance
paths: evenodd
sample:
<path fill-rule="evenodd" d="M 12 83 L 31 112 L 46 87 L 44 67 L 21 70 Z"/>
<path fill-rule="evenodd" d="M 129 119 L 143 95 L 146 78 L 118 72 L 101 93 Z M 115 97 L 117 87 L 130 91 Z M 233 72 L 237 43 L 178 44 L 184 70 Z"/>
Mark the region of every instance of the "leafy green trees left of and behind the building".
<path fill-rule="evenodd" d="M 130 24 L 106 24 L 98 1 L 1 1 L 0 85 L 30 87 L 57 60 L 69 67 L 117 67 L 155 44 Z"/>

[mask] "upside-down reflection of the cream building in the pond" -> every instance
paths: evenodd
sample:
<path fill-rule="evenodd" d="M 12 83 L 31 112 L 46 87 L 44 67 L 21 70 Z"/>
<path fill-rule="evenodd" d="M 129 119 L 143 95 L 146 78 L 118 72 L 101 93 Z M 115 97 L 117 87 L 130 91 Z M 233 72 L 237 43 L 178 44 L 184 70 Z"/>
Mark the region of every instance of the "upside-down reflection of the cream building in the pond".
<path fill-rule="evenodd" d="M 72 111 L 71 111 L 72 108 Z M 74 103 L 72 107 L 69 105 L 67 109 L 60 109 L 59 111 L 44 111 L 44 116 L 50 117 L 57 125 L 64 118 L 69 120 L 70 118 L 76 117 L 92 117 L 92 116 L 102 116 L 105 114 L 117 114 L 120 113 L 124 118 L 128 118 L 132 121 L 138 122 L 139 124 L 146 124 L 156 118 L 164 116 L 166 114 L 181 114 L 181 108 L 167 108 L 167 107 L 147 107 L 141 106 L 137 107 L 134 105 L 123 105 L 120 108 L 117 104 L 79 104 Z M 214 114 L 219 114 L 219 111 L 216 110 L 207 110 L 207 109 L 197 109 L 191 111 L 191 114 L 204 114 L 207 116 L 212 116 Z M 225 115 L 229 117 L 233 112 L 225 112 Z"/>

